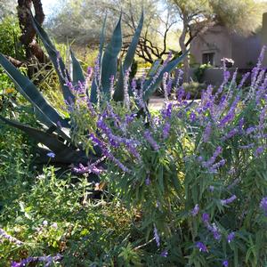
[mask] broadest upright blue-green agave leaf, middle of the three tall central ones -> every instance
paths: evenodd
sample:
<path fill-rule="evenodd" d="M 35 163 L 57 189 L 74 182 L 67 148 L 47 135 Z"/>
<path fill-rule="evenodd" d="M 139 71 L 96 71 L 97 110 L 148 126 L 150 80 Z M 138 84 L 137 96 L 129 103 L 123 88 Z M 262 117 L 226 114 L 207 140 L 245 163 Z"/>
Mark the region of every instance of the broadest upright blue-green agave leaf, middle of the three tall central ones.
<path fill-rule="evenodd" d="M 101 62 L 101 86 L 103 92 L 109 97 L 110 77 L 115 77 L 117 73 L 117 55 L 122 46 L 121 34 L 121 14 L 117 21 L 117 26 L 113 31 L 111 40 L 106 47 Z"/>

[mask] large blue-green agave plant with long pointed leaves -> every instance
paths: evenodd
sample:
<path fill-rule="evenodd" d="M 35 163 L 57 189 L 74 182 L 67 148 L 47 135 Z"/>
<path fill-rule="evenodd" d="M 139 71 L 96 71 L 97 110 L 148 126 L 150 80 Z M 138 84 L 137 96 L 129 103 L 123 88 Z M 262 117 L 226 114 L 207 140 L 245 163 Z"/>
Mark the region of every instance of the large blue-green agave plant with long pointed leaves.
<path fill-rule="evenodd" d="M 50 38 L 36 20 L 32 17 L 33 25 L 36 29 L 36 34 L 40 37 L 44 44 L 44 48 L 48 53 L 50 60 L 53 63 L 60 84 L 61 91 L 63 93 L 64 100 L 75 101 L 76 96 L 71 92 L 68 86 L 68 82 L 74 85 L 74 88 L 79 83 L 85 83 L 85 76 L 83 69 L 81 68 L 74 53 L 70 52 L 71 68 L 72 72 L 69 73 L 65 67 L 65 63 L 56 51 L 56 48 Z M 125 55 L 125 61 L 120 64 L 119 71 L 117 70 L 117 56 L 122 47 L 122 32 L 121 32 L 121 16 L 117 22 L 117 26 L 114 29 L 113 35 L 109 41 L 109 44 L 104 49 L 105 43 L 105 24 L 106 18 L 101 30 L 100 51 L 97 64 L 100 69 L 99 83 L 93 78 L 93 83 L 90 88 L 87 88 L 87 95 L 90 97 L 92 104 L 96 104 L 98 100 L 98 93 L 104 94 L 105 99 L 108 101 L 111 99 L 110 93 L 110 77 L 116 77 L 115 92 L 112 95 L 114 101 L 124 101 L 124 75 L 125 71 L 131 68 L 134 60 L 134 53 L 142 32 L 143 24 L 143 12 L 139 21 L 138 27 L 135 30 L 134 37 Z M 184 55 L 183 55 L 184 56 Z M 182 56 L 182 57 L 183 57 Z M 172 71 L 175 66 L 182 61 L 182 57 L 170 61 L 164 68 L 161 69 L 158 76 L 150 77 L 144 84 L 143 99 L 147 101 L 150 95 L 157 89 L 160 84 L 164 73 Z M 42 93 L 36 88 L 28 77 L 25 77 L 16 69 L 9 61 L 7 61 L 3 54 L 0 53 L 0 64 L 6 71 L 9 77 L 11 77 L 16 89 L 21 93 L 33 106 L 38 123 L 42 126 L 42 129 L 33 128 L 29 125 L 21 124 L 18 121 L 13 121 L 0 116 L 0 119 L 5 123 L 12 125 L 20 130 L 24 131 L 30 137 L 34 138 L 36 142 L 44 145 L 39 152 L 42 153 L 42 159 L 47 162 L 47 153 L 52 150 L 55 154 L 54 158 L 51 158 L 52 163 L 59 164 L 86 164 L 89 160 L 94 161 L 101 156 L 100 153 L 85 153 L 81 147 L 78 147 L 70 138 L 70 120 L 68 117 L 61 117 L 59 112 L 54 109 L 48 101 L 44 99 Z M 99 154 L 99 155 L 98 155 Z"/>

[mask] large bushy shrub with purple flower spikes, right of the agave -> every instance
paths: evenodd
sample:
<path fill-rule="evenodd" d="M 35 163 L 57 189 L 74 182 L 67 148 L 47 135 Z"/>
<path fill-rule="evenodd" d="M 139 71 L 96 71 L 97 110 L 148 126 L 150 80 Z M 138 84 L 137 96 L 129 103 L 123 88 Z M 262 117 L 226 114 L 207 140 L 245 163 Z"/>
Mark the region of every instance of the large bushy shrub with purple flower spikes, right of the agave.
<path fill-rule="evenodd" d="M 101 175 L 110 194 L 141 212 L 139 227 L 147 239 L 155 239 L 165 263 L 267 263 L 263 53 L 239 85 L 237 73 L 230 77 L 224 69 L 223 85 L 217 91 L 209 85 L 200 101 L 189 102 L 178 80 L 176 101 L 166 101 L 152 115 L 142 101 L 142 85 L 138 91 L 134 80 L 134 99 L 125 97 L 124 106 L 103 101 L 93 107 L 83 94 L 70 107 L 76 142 L 104 155 L 103 164 L 80 165 L 76 171 Z M 243 92 L 248 77 L 250 90 Z M 173 82 L 164 76 L 166 100 Z M 125 93 L 128 84 L 125 80 Z"/>

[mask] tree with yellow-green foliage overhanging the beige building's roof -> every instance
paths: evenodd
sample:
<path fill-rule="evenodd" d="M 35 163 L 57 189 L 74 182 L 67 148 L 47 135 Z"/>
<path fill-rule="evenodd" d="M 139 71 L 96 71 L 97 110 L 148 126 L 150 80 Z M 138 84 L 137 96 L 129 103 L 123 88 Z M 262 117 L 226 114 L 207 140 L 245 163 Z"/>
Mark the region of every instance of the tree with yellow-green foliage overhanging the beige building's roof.
<path fill-rule="evenodd" d="M 182 53 L 186 52 L 194 37 L 203 34 L 216 23 L 248 35 L 260 26 L 263 14 L 263 5 L 255 0 L 171 0 L 167 4 L 174 6 L 182 20 L 182 34 L 179 37 Z M 183 68 L 184 80 L 188 82 L 188 57 L 183 61 Z"/>

